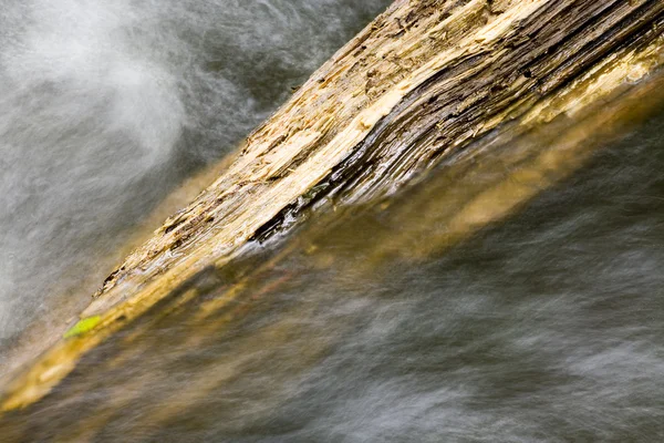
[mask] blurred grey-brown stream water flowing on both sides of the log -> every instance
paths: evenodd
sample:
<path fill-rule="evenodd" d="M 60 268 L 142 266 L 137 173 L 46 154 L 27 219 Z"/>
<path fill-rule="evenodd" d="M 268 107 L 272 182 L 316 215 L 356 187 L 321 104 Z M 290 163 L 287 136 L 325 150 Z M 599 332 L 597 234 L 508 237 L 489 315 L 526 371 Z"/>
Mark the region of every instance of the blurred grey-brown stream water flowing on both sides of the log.
<path fill-rule="evenodd" d="M 32 19 L 0 31 L 4 336 L 387 2 L 355 3 L 11 3 L 2 23 Z M 59 27 L 76 14 L 84 29 Z M 74 37 L 80 58 L 59 58 Z M 3 416 L 0 441 L 664 441 L 663 125 L 661 109 L 452 248 L 430 245 L 445 165 L 330 229 L 251 245 Z M 390 236 L 401 249 L 376 260 Z"/>

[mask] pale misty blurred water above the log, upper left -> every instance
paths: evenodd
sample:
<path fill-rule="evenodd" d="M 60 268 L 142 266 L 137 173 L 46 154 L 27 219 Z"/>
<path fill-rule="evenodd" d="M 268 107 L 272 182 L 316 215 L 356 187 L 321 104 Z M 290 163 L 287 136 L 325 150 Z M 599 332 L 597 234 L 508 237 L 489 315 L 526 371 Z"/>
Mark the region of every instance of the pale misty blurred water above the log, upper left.
<path fill-rule="evenodd" d="M 58 334 L 127 233 L 388 3 L 2 0 L 0 352 Z"/>

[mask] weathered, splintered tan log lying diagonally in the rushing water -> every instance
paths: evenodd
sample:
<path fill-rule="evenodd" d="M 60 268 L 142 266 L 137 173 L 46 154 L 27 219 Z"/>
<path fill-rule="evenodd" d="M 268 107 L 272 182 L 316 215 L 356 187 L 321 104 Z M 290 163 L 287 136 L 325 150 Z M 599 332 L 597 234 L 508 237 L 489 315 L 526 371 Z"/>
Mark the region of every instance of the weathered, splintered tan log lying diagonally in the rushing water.
<path fill-rule="evenodd" d="M 393 195 L 456 155 L 521 143 L 506 155 L 528 186 L 498 181 L 466 194 L 449 206 L 452 234 L 430 247 L 504 217 L 551 182 L 541 171 L 570 174 L 592 151 L 590 134 L 633 119 L 633 107 L 621 103 L 658 94 L 663 25 L 660 0 L 396 1 L 126 258 L 81 321 L 11 380 L 2 410 L 44 398 L 82 356 L 165 300 L 196 298 L 181 288 L 232 262 L 247 244 L 288 230 L 312 210 Z M 574 122 L 590 122 L 592 133 Z M 536 142 L 544 125 L 560 132 L 546 150 Z M 473 174 L 466 166 L 450 175 L 450 186 Z M 385 241 L 376 254 L 395 248 Z M 228 300 L 212 300 L 203 312 Z"/>

